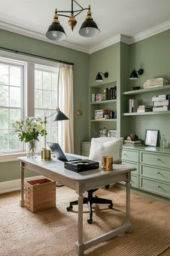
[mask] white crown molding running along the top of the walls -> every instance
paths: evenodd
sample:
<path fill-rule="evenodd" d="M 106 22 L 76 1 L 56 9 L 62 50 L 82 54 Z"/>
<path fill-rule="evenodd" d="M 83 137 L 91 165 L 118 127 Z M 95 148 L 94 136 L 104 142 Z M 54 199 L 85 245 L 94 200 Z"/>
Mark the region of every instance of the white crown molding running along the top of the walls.
<path fill-rule="evenodd" d="M 127 44 L 137 43 L 138 41 L 149 38 L 152 35 L 156 35 L 158 33 L 164 32 L 165 30 L 169 30 L 170 20 L 164 23 L 161 23 L 160 25 L 157 25 L 155 27 L 151 27 L 150 29 L 143 31 L 142 33 L 138 33 L 134 36 L 128 36 L 128 35 L 122 35 L 122 34 L 115 35 L 112 38 L 108 38 L 107 40 L 104 40 L 102 43 L 97 43 L 95 46 L 92 46 L 90 48 L 86 46 L 79 46 L 75 43 L 68 43 L 66 41 L 62 41 L 62 42 L 51 41 L 48 38 L 46 38 L 42 32 L 37 32 L 35 30 L 31 30 L 30 28 L 21 27 L 20 25 L 13 25 L 9 22 L 6 22 L 5 20 L 0 20 L 0 29 L 8 30 L 12 33 L 17 33 L 20 35 L 25 35 L 30 38 L 43 40 L 48 43 L 53 43 L 57 46 L 71 48 L 73 50 L 81 51 L 86 54 L 93 54 L 94 52 L 102 50 L 103 48 L 106 48 L 108 46 L 112 46 L 115 43 L 119 43 L 119 42 L 127 43 Z"/>

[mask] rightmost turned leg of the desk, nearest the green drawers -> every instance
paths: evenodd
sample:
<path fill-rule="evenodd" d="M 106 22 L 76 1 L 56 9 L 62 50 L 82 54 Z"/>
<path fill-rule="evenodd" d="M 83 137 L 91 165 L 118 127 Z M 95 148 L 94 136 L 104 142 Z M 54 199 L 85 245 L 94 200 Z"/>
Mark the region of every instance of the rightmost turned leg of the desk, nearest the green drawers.
<path fill-rule="evenodd" d="M 126 181 L 126 224 L 128 227 L 128 233 L 131 231 L 131 224 L 130 224 L 130 172 L 128 172 L 128 177 Z"/>

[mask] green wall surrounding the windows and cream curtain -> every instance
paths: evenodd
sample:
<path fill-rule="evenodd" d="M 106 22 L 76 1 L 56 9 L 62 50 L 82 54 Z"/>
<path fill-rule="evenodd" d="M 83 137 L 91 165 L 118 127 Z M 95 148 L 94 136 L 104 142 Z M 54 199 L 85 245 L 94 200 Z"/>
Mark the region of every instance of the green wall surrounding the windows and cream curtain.
<path fill-rule="evenodd" d="M 74 111 L 74 148 L 75 153 L 81 153 L 81 141 L 89 136 L 89 54 L 70 48 L 56 46 L 42 40 L 28 38 L 5 30 L 0 30 L 0 47 L 24 51 L 30 54 L 46 56 L 52 59 L 68 61 L 73 66 L 73 111 Z M 82 116 L 77 116 L 81 102 Z M 3 165 L 3 166 L 2 166 Z M 0 182 L 18 179 L 18 167 L 11 163 L 0 163 Z"/>

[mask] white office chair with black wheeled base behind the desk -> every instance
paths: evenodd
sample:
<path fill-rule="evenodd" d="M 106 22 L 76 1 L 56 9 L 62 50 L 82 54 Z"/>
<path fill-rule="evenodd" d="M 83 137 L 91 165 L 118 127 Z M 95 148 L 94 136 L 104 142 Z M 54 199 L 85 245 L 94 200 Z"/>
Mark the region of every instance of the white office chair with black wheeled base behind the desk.
<path fill-rule="evenodd" d="M 110 137 L 99 137 L 99 138 L 92 138 L 91 139 L 91 147 L 89 153 L 89 159 L 94 161 L 101 161 L 102 156 L 108 155 L 112 156 L 113 163 L 120 163 L 122 158 L 122 144 L 123 138 L 115 139 Z M 106 186 L 108 188 L 109 185 Z M 84 203 L 86 203 L 89 207 L 89 218 L 87 222 L 91 224 L 93 221 L 92 219 L 92 204 L 93 203 L 102 203 L 102 204 L 109 204 L 109 208 L 111 209 L 113 204 L 112 200 L 108 200 L 105 198 L 97 197 L 93 193 L 97 191 L 96 189 L 91 189 L 87 191 L 87 197 L 84 197 Z M 72 210 L 73 205 L 78 205 L 78 201 L 70 202 L 70 206 L 68 206 L 67 210 Z"/>

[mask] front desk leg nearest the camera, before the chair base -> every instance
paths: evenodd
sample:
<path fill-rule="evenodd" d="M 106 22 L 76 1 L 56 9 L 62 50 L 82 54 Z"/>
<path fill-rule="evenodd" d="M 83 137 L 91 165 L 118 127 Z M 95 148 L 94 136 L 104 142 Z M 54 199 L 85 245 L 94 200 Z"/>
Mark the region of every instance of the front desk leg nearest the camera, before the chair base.
<path fill-rule="evenodd" d="M 76 242 L 76 254 L 78 256 L 84 255 L 84 243 L 83 243 L 83 202 L 84 196 L 79 194 L 79 213 L 78 213 L 78 241 Z"/>

